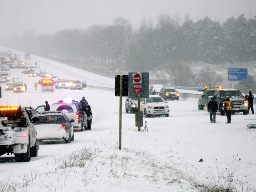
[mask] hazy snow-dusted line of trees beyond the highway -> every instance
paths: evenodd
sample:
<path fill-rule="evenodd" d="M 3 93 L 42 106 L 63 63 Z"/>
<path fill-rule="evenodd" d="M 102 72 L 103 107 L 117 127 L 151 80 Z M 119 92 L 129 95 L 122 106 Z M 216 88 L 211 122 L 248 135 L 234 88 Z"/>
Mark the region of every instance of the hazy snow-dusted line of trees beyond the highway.
<path fill-rule="evenodd" d="M 194 23 L 189 16 L 182 21 L 179 16 L 161 14 L 155 27 L 151 20 L 143 18 L 138 30 L 129 20 L 118 17 L 108 26 L 64 29 L 53 35 L 36 35 L 30 30 L 2 44 L 81 66 L 93 63 L 104 66 L 106 71 L 164 70 L 168 83 L 202 86 L 207 76 L 217 82 L 220 77 L 216 73 L 209 77 L 209 70 L 201 70 L 204 78 L 200 78 L 187 63 L 214 65 L 256 60 L 256 16 L 246 19 L 242 14 L 221 25 L 209 17 Z"/>

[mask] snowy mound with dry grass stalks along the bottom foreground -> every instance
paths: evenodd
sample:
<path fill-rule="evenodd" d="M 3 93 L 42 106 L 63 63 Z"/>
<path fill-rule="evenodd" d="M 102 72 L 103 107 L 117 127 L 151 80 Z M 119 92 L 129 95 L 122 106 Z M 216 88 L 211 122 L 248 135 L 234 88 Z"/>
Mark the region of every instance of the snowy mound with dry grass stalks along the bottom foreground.
<path fill-rule="evenodd" d="M 221 168 L 210 167 L 208 184 L 199 184 L 194 178 L 177 169 L 172 161 L 163 162 L 144 150 L 123 148 L 118 150 L 104 142 L 94 142 L 74 151 L 66 157 L 55 159 L 52 167 L 38 173 L 30 172 L 10 176 L 0 181 L 2 191 L 104 191 L 104 189 L 138 190 L 141 185 L 147 191 L 201 191 L 201 192 L 252 192 L 248 183 L 235 179 L 241 160 L 234 156 L 232 162 Z M 217 171 L 217 175 L 214 172 Z M 17 182 L 11 182 L 11 179 Z M 241 190 L 238 190 L 240 188 Z M 142 189 L 141 189 L 142 190 Z"/>

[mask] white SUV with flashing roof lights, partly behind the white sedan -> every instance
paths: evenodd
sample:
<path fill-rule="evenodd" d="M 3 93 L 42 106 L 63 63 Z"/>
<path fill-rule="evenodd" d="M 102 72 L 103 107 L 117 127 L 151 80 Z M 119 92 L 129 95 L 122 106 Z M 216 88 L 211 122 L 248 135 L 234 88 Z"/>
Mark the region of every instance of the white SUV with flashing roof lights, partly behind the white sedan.
<path fill-rule="evenodd" d="M 45 111 L 45 105 L 40 105 L 35 109 L 38 113 Z M 74 129 L 82 131 L 83 127 L 87 128 L 87 115 L 82 110 L 82 105 L 80 102 L 72 101 L 58 101 L 53 103 L 50 108 L 51 111 L 62 111 L 69 117 L 69 119 L 74 119 L 72 125 Z"/>

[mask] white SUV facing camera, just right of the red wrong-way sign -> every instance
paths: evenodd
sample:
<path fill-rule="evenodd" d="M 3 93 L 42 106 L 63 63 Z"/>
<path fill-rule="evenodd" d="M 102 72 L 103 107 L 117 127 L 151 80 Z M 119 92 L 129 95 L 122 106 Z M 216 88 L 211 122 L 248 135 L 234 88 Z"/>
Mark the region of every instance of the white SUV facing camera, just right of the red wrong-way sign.
<path fill-rule="evenodd" d="M 140 103 L 140 111 L 145 117 L 161 116 L 169 117 L 169 106 L 159 95 L 150 95 L 149 98 L 142 98 Z"/>

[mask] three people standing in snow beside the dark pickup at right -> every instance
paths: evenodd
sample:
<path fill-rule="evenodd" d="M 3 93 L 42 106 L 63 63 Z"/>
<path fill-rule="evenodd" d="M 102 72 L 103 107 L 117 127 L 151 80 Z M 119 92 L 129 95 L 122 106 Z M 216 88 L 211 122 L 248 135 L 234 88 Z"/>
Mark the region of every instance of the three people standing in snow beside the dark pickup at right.
<path fill-rule="evenodd" d="M 215 100 L 216 99 L 216 95 L 211 97 L 211 100 L 208 102 L 207 105 L 207 110 L 210 113 L 210 122 L 211 123 L 216 123 L 216 112 L 218 110 L 218 103 Z M 251 91 L 249 91 L 249 95 L 247 96 L 247 100 L 248 100 L 248 110 L 247 110 L 247 114 L 250 112 L 254 114 L 254 110 L 253 110 L 253 99 L 254 96 L 252 95 Z M 225 99 L 224 102 L 224 111 L 226 113 L 227 116 L 227 122 L 226 123 L 231 123 L 231 110 L 233 108 L 233 104 L 232 101 L 230 101 L 229 98 Z"/>

